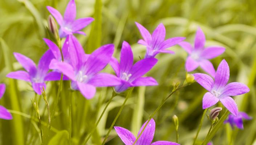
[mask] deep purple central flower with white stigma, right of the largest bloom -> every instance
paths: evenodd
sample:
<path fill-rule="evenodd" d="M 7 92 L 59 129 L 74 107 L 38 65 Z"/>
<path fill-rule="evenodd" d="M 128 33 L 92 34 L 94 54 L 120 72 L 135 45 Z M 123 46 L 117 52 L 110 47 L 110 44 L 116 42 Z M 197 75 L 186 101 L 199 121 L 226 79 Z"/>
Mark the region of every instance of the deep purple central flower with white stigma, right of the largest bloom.
<path fill-rule="evenodd" d="M 123 41 L 120 55 L 120 64 L 114 57 L 110 62 L 115 74 L 122 80 L 122 84 L 115 86 L 117 92 L 123 92 L 129 87 L 158 85 L 152 77 L 141 77 L 157 63 L 157 59 L 145 58 L 133 65 L 133 52 L 126 41 Z"/>

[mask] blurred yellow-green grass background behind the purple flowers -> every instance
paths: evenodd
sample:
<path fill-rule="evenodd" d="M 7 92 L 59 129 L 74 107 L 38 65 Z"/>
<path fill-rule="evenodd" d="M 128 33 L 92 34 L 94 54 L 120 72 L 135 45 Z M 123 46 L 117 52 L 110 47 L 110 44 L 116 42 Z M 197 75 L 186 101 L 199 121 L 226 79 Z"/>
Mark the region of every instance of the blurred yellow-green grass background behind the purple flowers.
<path fill-rule="evenodd" d="M 45 29 L 46 18 L 49 15 L 46 5 L 57 8 L 63 14 L 67 3 L 68 0 L 0 1 L 0 82 L 7 84 L 7 92 L 0 101 L 1 105 L 36 117 L 30 101 L 34 93 L 29 84 L 5 78 L 10 67 L 14 70 L 21 69 L 21 65 L 6 51 L 19 52 L 38 62 L 42 53 L 48 49 L 42 40 L 43 37 L 48 37 Z M 132 45 L 135 60 L 139 60 L 139 56 L 143 57 L 145 53 L 145 47 L 136 44 L 141 36 L 134 24 L 135 21 L 144 25 L 150 32 L 162 22 L 166 26 L 167 38 L 183 36 L 187 37 L 186 41 L 189 42 L 194 41 L 195 31 L 200 26 L 206 34 L 206 45 L 226 47 L 225 53 L 212 59 L 212 63 L 216 68 L 225 58 L 230 67 L 230 81 L 242 82 L 250 87 L 251 91 L 248 94 L 235 98 L 239 110 L 246 111 L 253 120 L 244 123 L 244 130 L 235 129 L 233 133 L 228 125 L 223 125 L 213 138 L 213 142 L 216 145 L 226 145 L 234 140 L 232 142 L 234 145 L 251 145 L 256 141 L 255 0 L 97 0 L 98 5 L 101 3 L 102 8 L 95 7 L 95 0 L 76 0 L 78 18 L 89 16 L 96 18 L 93 24 L 84 29 L 89 36 L 77 36 L 87 52 L 92 52 L 99 45 L 114 43 L 115 57 L 119 58 L 120 46 L 125 40 Z M 146 87 L 146 90 L 143 87 L 135 88 L 117 120 L 117 126 L 137 133 L 149 114 L 171 91 L 173 82 L 184 80 L 186 53 L 179 46 L 174 46 L 172 49 L 176 54 L 158 55 L 157 66 L 148 74 L 157 79 L 159 86 Z M 9 63 L 12 66 L 9 66 Z M 113 73 L 110 67 L 105 71 Z M 201 72 L 200 69 L 196 71 Z M 46 92 L 49 94 L 50 107 L 53 107 L 58 83 L 48 82 L 47 85 Z M 50 131 L 49 139 L 52 144 L 54 141 L 56 144 L 58 140 L 68 140 L 68 132 L 64 131 L 68 130 L 69 125 L 68 87 L 69 83 L 64 82 L 65 89 L 62 90 L 57 113 L 52 120 L 54 129 L 60 130 L 58 133 L 56 130 Z M 99 88 L 92 100 L 86 100 L 79 92 L 74 93 L 72 98 L 73 144 L 80 145 L 84 141 L 84 137 L 92 129 L 106 101 L 110 98 L 111 91 L 111 88 Z M 175 141 L 171 116 L 176 114 L 180 120 L 179 143 L 192 144 L 203 113 L 201 100 L 204 92 L 201 86 L 194 83 L 172 96 L 154 117 L 157 123 L 154 140 Z M 88 144 L 100 144 L 100 138 L 106 134 L 123 100 L 122 96 L 117 96 L 110 103 L 98 125 L 97 132 L 93 134 Z M 41 119 L 47 123 L 47 109 L 43 100 L 39 106 Z M 13 117 L 12 121 L 1 120 L 1 144 L 40 144 L 37 121 L 14 113 Z M 210 123 L 205 119 L 199 134 L 199 143 L 204 140 L 209 128 Z M 47 126 L 43 126 L 43 131 L 45 141 Z M 107 144 L 122 144 L 114 130 Z"/>

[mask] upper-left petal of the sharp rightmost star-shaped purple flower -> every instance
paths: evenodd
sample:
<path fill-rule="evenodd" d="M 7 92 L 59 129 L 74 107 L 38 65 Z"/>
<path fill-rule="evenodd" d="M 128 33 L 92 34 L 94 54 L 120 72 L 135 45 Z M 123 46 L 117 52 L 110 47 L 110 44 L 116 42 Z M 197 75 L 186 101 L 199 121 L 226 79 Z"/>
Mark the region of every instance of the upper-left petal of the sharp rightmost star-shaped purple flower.
<path fill-rule="evenodd" d="M 193 74 L 196 82 L 198 82 L 207 91 L 211 91 L 214 85 L 214 80 L 207 74 L 196 73 Z"/>

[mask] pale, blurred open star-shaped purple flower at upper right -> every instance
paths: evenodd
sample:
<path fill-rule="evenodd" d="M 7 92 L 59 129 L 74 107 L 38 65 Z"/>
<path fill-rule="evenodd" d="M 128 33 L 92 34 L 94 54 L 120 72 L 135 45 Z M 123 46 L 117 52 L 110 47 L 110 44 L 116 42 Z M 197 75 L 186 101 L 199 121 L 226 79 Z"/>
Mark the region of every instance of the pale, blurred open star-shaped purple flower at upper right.
<path fill-rule="evenodd" d="M 188 72 L 193 71 L 200 66 L 204 71 L 214 77 L 215 69 L 208 59 L 215 58 L 224 53 L 225 48 L 221 46 L 209 46 L 205 48 L 205 41 L 202 29 L 198 28 L 196 31 L 194 48 L 188 42 L 180 42 L 179 45 L 188 53 L 186 61 L 186 70 Z"/>

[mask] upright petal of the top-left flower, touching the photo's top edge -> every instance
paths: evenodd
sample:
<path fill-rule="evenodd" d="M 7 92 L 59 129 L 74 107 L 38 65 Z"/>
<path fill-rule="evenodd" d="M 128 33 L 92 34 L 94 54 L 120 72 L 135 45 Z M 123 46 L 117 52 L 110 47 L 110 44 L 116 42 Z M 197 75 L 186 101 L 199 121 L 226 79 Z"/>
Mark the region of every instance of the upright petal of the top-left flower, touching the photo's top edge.
<path fill-rule="evenodd" d="M 64 13 L 64 21 L 72 22 L 75 19 L 76 19 L 76 3 L 75 3 L 75 0 L 70 0 Z"/>

